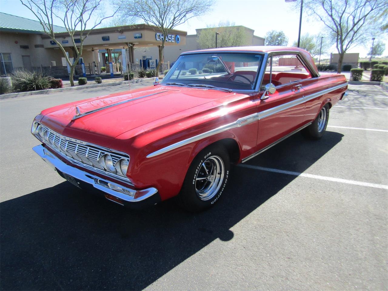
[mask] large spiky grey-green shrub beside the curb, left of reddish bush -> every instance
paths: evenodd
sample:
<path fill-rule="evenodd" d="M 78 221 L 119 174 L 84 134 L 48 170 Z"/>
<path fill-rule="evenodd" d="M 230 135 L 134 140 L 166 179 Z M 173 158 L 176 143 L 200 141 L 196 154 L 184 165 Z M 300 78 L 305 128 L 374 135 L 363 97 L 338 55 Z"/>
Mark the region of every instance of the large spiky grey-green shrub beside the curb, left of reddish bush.
<path fill-rule="evenodd" d="M 15 71 L 11 76 L 15 91 L 36 91 L 50 88 L 51 77 L 38 72 Z"/>

